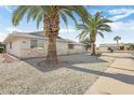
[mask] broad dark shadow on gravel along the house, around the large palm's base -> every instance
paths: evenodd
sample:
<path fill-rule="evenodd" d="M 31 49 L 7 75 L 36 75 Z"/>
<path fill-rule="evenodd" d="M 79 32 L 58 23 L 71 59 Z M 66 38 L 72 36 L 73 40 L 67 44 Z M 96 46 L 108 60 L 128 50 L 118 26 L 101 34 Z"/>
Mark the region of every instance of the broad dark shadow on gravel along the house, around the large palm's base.
<path fill-rule="evenodd" d="M 67 67 L 70 67 L 71 65 L 108 62 L 104 59 L 100 59 L 99 57 L 88 56 L 88 55 L 59 56 L 58 59 L 59 59 L 59 63 L 57 66 L 48 65 L 44 61 L 45 60 L 44 57 L 24 59 L 23 61 L 27 62 L 31 67 L 34 67 L 42 72 L 57 70 L 59 68 L 67 68 Z"/>

